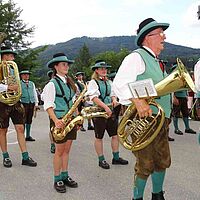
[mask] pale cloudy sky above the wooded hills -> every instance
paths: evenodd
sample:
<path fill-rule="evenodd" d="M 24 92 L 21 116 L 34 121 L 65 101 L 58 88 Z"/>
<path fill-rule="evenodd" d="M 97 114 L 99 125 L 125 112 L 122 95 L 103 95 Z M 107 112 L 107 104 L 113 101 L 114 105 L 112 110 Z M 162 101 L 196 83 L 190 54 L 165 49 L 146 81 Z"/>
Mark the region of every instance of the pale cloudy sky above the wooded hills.
<path fill-rule="evenodd" d="M 13 0 L 21 19 L 35 26 L 33 47 L 74 37 L 135 35 L 139 23 L 152 17 L 170 23 L 166 41 L 200 48 L 200 0 Z"/>

